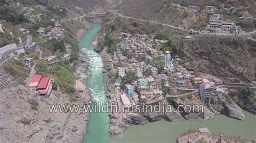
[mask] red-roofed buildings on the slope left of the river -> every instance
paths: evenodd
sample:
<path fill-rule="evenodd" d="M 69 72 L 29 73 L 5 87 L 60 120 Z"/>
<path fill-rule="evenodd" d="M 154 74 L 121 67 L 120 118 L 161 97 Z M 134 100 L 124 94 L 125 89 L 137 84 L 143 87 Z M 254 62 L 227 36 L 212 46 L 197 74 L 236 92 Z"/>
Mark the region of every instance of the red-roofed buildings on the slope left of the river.
<path fill-rule="evenodd" d="M 50 95 L 52 90 L 50 77 L 44 77 L 41 74 L 33 75 L 29 83 L 29 89 L 37 91 L 40 96 Z"/>

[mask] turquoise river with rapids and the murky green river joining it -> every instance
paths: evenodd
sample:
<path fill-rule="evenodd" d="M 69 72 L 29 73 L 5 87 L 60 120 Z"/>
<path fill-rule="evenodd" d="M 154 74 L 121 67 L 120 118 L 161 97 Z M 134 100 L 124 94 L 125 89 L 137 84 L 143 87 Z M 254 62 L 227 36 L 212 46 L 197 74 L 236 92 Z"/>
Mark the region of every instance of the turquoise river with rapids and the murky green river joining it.
<path fill-rule="evenodd" d="M 95 24 L 84 35 L 79 47 L 90 59 L 89 72 L 91 76 L 87 80 L 91 97 L 101 103 L 108 101 L 104 93 L 103 84 L 103 60 L 100 55 L 93 52 L 92 42 L 99 32 L 101 25 Z M 256 140 L 256 116 L 244 111 L 246 120 L 228 118 L 224 115 L 215 116 L 212 120 L 203 120 L 200 127 L 207 127 L 215 133 L 234 135 L 242 138 Z M 84 142 L 176 142 L 176 139 L 190 127 L 190 121 L 156 121 L 146 125 L 131 125 L 123 134 L 110 137 L 110 118 L 107 113 L 90 113 L 90 121 L 87 126 L 87 134 Z M 198 120 L 192 121 L 192 128 L 198 128 Z"/>

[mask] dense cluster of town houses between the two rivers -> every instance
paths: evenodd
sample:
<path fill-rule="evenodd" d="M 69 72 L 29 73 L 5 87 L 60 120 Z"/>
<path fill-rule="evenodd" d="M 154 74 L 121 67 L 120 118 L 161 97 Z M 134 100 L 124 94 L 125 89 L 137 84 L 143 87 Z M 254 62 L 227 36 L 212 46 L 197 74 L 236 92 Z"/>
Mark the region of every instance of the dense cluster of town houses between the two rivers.
<path fill-rule="evenodd" d="M 168 41 L 148 38 L 146 34 L 120 33 L 118 39 L 117 53 L 114 52 L 113 63 L 119 65 L 117 75 L 120 79 L 127 72 L 135 73 L 137 80 L 131 84 L 125 84 L 125 90 L 120 89 L 120 83 L 116 82 L 117 94 L 125 103 L 137 104 L 138 102 L 149 102 L 152 98 L 163 97 L 166 89 L 200 89 L 200 97 L 226 94 L 225 89 L 217 86 L 223 82 L 219 78 L 211 80 L 195 77 L 194 71 L 187 70 L 179 65 L 179 56 L 173 56 L 170 51 L 161 52 L 159 49 Z M 159 73 L 153 66 L 152 61 L 156 57 L 163 58 L 165 62 L 164 71 Z M 188 63 L 189 64 L 189 63 Z"/>

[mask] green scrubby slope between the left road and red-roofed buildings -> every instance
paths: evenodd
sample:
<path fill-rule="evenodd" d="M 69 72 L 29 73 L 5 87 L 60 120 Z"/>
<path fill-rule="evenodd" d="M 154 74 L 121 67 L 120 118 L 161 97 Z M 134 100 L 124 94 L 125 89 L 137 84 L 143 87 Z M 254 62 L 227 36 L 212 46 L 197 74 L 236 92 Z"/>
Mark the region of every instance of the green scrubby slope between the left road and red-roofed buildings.
<path fill-rule="evenodd" d="M 9 62 L 4 66 L 4 69 L 8 74 L 14 76 L 20 83 L 24 83 L 30 74 L 30 69 L 26 67 L 21 60 Z"/>

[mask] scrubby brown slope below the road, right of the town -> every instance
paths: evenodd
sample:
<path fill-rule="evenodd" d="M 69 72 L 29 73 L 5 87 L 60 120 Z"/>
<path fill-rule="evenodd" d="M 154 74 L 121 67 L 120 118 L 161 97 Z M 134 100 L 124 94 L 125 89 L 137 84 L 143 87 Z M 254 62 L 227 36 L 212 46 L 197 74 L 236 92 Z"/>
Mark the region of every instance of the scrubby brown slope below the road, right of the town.
<path fill-rule="evenodd" d="M 218 75 L 227 80 L 239 78 L 254 81 L 256 43 L 250 39 L 197 37 L 182 41 L 179 55 L 186 57 L 188 67 L 203 73 Z M 185 62 L 184 62 L 185 63 Z"/>

